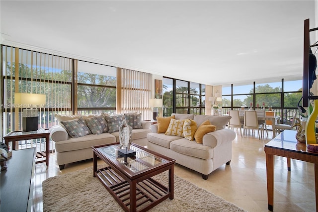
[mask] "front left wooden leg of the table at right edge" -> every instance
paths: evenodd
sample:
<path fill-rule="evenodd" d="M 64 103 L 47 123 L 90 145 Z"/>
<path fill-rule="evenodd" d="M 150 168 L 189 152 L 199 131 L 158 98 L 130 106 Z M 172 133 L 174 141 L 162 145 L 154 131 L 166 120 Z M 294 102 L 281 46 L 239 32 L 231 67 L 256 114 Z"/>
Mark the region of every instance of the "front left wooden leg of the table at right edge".
<path fill-rule="evenodd" d="M 274 209 L 274 155 L 266 154 L 268 210 Z"/>

